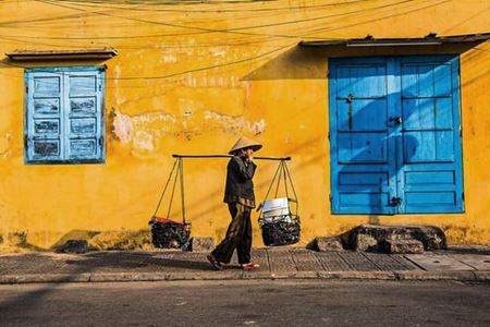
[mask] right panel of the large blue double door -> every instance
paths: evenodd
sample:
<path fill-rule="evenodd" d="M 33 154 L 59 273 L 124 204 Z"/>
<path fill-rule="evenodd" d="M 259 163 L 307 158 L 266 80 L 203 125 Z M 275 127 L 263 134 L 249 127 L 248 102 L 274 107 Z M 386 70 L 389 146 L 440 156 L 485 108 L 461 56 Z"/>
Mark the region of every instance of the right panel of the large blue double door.
<path fill-rule="evenodd" d="M 404 213 L 462 213 L 458 58 L 401 59 Z"/>

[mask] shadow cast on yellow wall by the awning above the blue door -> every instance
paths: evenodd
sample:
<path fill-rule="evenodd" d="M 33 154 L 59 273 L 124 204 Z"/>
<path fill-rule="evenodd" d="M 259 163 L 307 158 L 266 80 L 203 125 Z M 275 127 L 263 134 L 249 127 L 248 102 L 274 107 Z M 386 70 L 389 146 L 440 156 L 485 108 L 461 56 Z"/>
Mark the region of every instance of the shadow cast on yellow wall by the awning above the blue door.
<path fill-rule="evenodd" d="M 482 41 L 443 44 L 441 46 L 346 48 L 344 46 L 305 47 L 295 46 L 264 65 L 248 73 L 242 81 L 273 80 L 326 80 L 328 58 L 414 56 L 414 55 L 461 55 Z"/>

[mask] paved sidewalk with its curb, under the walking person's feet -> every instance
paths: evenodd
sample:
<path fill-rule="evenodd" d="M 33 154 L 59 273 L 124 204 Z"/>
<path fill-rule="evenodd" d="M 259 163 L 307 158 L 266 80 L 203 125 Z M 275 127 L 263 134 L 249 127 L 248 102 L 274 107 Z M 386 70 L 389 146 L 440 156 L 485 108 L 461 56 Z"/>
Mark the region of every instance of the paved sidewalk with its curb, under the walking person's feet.
<path fill-rule="evenodd" d="M 181 251 L 2 254 L 0 283 L 284 278 L 490 282 L 490 247 L 485 246 L 406 255 L 268 247 L 255 249 L 253 258 L 260 269 L 244 271 L 234 258 L 216 271 L 206 253 Z"/>

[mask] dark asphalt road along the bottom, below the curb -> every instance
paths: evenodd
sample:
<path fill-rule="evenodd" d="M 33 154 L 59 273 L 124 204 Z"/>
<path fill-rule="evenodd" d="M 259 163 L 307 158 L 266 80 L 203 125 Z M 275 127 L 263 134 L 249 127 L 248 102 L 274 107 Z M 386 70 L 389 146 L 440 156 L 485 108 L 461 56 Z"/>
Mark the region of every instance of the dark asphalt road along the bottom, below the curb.
<path fill-rule="evenodd" d="M 184 281 L 0 286 L 0 326 L 490 326 L 490 284 Z"/>

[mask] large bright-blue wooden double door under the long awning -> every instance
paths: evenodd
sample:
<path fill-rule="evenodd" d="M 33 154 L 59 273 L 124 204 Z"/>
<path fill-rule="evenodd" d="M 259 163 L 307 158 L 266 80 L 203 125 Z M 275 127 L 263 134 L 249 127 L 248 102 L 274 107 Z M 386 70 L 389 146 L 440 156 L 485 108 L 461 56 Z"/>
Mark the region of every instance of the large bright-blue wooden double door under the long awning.
<path fill-rule="evenodd" d="M 329 68 L 332 211 L 462 211 L 457 58 Z"/>

